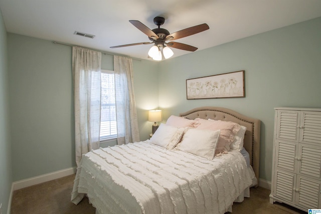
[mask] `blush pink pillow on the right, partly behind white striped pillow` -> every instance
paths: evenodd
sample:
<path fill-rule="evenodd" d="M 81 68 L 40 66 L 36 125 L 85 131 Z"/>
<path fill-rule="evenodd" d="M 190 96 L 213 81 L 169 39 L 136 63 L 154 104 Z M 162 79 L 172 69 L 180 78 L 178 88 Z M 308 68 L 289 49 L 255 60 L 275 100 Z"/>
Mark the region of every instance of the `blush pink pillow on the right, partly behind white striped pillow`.
<path fill-rule="evenodd" d="M 222 120 L 205 120 L 196 118 L 200 123 L 197 129 L 221 130 L 219 141 L 215 153 L 227 153 L 230 151 L 230 145 L 234 140 L 235 135 L 241 129 L 237 123 L 222 121 Z"/>

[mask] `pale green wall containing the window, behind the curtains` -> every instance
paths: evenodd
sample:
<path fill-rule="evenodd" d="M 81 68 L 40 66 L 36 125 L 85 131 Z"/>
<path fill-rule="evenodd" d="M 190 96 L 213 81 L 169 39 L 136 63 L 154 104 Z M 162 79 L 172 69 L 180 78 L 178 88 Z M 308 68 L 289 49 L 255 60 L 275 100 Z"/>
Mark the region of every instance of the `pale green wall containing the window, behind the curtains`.
<path fill-rule="evenodd" d="M 13 179 L 76 166 L 72 48 L 9 33 L 8 50 Z M 147 110 L 158 106 L 156 66 L 133 60 L 141 140 L 152 125 Z M 113 56 L 103 54 L 101 67 L 113 70 Z"/>

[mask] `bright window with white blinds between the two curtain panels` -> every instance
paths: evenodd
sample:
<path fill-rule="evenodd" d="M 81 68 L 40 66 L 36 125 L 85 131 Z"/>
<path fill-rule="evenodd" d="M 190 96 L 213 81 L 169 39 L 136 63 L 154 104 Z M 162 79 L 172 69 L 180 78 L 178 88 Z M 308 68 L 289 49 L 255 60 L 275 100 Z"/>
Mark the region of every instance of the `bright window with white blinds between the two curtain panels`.
<path fill-rule="evenodd" d="M 101 70 L 100 141 L 117 137 L 114 76 L 113 71 Z"/>

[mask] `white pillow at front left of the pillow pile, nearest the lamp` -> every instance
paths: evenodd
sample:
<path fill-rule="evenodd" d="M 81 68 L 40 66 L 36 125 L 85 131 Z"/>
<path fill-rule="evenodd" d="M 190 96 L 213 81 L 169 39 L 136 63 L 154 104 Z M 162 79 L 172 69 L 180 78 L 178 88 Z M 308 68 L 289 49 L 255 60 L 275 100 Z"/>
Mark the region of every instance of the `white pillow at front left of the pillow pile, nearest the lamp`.
<path fill-rule="evenodd" d="M 161 123 L 155 133 L 151 136 L 149 142 L 158 146 L 173 149 L 181 140 L 185 128 L 178 128 Z"/>

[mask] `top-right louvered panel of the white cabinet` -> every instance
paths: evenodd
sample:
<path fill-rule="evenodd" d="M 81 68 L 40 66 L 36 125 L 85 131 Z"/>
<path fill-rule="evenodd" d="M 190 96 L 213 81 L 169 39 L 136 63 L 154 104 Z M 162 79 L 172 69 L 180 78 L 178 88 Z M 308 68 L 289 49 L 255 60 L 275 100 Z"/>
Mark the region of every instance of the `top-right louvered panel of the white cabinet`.
<path fill-rule="evenodd" d="M 321 112 L 302 111 L 300 142 L 321 146 Z"/>

